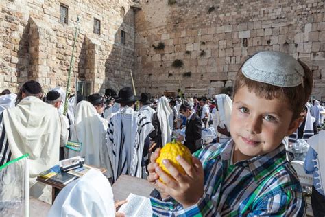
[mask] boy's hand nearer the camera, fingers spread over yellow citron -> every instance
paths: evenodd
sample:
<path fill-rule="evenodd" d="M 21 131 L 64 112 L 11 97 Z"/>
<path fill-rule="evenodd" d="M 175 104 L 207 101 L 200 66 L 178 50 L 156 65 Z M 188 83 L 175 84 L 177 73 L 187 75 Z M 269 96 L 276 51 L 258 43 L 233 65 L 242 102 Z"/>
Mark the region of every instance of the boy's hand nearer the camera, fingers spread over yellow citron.
<path fill-rule="evenodd" d="M 192 157 L 193 165 L 187 163 L 180 156 L 177 157 L 177 160 L 184 168 L 186 172 L 185 175 L 179 172 L 167 159 L 165 159 L 163 163 L 174 179 L 163 172 L 160 167 L 156 166 L 156 175 L 158 174 L 165 184 L 158 179 L 155 180 L 156 185 L 161 191 L 165 192 L 165 194 L 169 194 L 186 208 L 195 205 L 203 196 L 204 172 L 202 163 L 195 157 Z"/>

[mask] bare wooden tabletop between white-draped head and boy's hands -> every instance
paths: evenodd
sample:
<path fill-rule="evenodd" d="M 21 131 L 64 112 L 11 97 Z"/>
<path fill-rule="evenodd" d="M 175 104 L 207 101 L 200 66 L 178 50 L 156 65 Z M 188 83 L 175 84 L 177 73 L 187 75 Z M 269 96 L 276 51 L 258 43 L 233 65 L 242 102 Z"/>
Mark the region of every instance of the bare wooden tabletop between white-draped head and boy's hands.
<path fill-rule="evenodd" d="M 115 201 L 125 200 L 130 193 L 148 197 L 154 187 L 146 180 L 134 176 L 121 175 L 112 185 Z"/>

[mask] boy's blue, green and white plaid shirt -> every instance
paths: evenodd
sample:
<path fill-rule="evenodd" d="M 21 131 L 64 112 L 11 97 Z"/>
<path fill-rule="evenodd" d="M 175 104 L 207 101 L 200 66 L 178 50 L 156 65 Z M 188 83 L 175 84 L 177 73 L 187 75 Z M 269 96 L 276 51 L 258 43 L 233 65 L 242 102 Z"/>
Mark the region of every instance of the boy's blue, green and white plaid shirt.
<path fill-rule="evenodd" d="M 183 209 L 169 198 L 152 197 L 154 216 L 304 216 L 306 202 L 285 147 L 230 165 L 234 142 L 195 152 L 204 168 L 204 195 Z M 153 194 L 152 194 L 153 196 Z"/>

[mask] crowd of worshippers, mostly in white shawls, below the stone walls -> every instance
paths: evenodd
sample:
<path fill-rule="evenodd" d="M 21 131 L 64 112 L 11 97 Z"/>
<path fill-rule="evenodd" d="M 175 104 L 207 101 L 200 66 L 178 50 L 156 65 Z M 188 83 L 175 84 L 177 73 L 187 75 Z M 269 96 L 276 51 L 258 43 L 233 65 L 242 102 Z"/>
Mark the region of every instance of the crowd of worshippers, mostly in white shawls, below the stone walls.
<path fill-rule="evenodd" d="M 41 185 L 34 178 L 59 159 L 82 156 L 86 164 L 106 168 L 105 175 L 114 183 L 121 174 L 145 178 L 149 152 L 172 137 L 191 152 L 202 148 L 204 130 L 215 132 L 218 142 L 230 137 L 232 100 L 226 94 L 213 100 L 152 98 L 149 93 L 136 96 L 130 87 L 118 95 L 107 89 L 103 97 L 98 93 L 87 99 L 70 96 L 63 115 L 65 98 L 61 87 L 43 97 L 42 87 L 33 80 L 25 82 L 17 95 L 3 91 L 0 96 L 0 165 L 29 153 L 30 193 L 36 198 L 44 185 L 33 188 Z M 324 123 L 320 115 L 324 107 L 317 100 L 313 103 L 306 106 L 304 126 L 290 137 L 291 142 Z M 82 143 L 81 150 L 66 148 L 67 141 Z"/>

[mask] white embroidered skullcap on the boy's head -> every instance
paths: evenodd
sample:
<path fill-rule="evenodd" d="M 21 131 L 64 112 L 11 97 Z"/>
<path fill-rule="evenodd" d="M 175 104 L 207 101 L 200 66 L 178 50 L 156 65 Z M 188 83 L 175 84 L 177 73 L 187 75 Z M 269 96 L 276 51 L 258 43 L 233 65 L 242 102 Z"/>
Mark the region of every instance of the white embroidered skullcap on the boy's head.
<path fill-rule="evenodd" d="M 258 52 L 244 63 L 241 70 L 246 78 L 278 87 L 296 87 L 304 78 L 302 65 L 282 52 Z"/>

